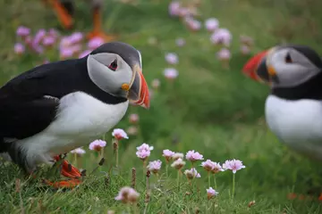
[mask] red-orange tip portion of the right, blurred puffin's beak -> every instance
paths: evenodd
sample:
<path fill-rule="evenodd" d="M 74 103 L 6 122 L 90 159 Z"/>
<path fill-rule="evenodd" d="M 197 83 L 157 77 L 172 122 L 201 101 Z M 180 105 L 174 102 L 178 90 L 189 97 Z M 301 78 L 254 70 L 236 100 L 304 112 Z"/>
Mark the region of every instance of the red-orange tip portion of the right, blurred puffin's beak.
<path fill-rule="evenodd" d="M 257 70 L 259 63 L 262 62 L 263 59 L 267 56 L 267 52 L 268 51 L 257 53 L 255 56 L 250 58 L 250 60 L 246 62 L 246 64 L 242 68 L 242 73 L 256 81 L 261 81 L 262 79 L 258 77 Z"/>

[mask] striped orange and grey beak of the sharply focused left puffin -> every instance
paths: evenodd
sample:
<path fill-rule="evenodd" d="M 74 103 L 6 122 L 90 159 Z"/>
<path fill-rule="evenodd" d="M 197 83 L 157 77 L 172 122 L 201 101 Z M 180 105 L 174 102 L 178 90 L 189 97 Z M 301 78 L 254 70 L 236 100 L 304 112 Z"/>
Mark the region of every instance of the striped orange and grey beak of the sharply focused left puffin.
<path fill-rule="evenodd" d="M 135 65 L 133 68 L 128 99 L 133 104 L 140 105 L 145 109 L 149 108 L 148 84 L 139 65 Z"/>

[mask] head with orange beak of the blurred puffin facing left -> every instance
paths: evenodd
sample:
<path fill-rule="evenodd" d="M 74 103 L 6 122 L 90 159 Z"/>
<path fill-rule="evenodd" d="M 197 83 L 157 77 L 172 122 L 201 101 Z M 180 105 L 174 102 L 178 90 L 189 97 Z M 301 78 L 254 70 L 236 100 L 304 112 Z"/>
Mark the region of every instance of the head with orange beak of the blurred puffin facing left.
<path fill-rule="evenodd" d="M 247 62 L 242 72 L 272 88 L 300 86 L 322 71 L 322 61 L 305 45 L 278 45 L 258 53 Z"/>

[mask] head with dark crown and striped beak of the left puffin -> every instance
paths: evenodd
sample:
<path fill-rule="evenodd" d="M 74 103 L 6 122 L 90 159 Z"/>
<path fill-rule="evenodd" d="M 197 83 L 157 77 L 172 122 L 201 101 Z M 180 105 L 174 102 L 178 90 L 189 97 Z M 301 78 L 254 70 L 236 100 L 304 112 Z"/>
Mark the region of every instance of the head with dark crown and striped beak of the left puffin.
<path fill-rule="evenodd" d="M 122 42 L 106 43 L 87 57 L 89 78 L 110 95 L 149 108 L 148 85 L 140 52 Z"/>

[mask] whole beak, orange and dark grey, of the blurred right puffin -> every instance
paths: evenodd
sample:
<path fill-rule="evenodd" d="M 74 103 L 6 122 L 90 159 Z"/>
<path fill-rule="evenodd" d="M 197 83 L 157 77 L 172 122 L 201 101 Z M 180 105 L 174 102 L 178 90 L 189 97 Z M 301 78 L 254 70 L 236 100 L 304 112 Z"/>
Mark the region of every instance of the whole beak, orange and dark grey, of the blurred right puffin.
<path fill-rule="evenodd" d="M 257 53 L 244 65 L 242 72 L 258 82 L 278 82 L 275 69 L 267 62 L 267 55 L 273 51 L 274 49 Z"/>

